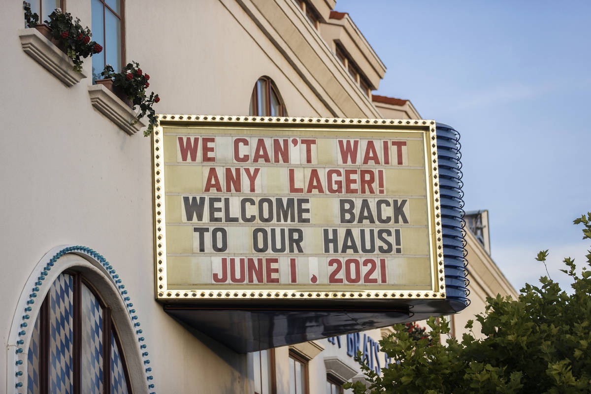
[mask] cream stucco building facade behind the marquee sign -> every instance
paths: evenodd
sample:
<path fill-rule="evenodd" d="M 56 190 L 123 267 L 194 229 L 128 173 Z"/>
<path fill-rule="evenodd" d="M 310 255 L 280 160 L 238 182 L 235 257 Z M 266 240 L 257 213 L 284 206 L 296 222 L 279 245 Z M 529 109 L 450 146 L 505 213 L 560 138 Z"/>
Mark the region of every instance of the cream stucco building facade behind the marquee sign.
<path fill-rule="evenodd" d="M 239 354 L 168 315 L 154 299 L 151 139 L 93 84 L 105 64 L 134 60 L 157 113 L 420 119 L 410 101 L 372 95 L 386 67 L 352 18 L 334 0 L 32 3 L 41 20 L 56 7 L 79 17 L 103 51 L 72 71 L 25 29 L 22 4 L 5 4 L 0 386 L 336 393 L 361 379 L 356 350 L 385 366 L 377 341 L 389 328 Z M 488 240 L 466 233 L 472 304 L 451 317 L 456 335 L 486 296 L 516 296 Z"/>

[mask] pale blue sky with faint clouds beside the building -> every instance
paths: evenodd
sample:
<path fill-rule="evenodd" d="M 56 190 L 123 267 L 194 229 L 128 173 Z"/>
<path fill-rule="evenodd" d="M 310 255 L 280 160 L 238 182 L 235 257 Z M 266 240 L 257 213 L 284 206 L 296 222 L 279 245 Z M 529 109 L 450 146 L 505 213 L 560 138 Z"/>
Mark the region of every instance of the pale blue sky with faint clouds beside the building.
<path fill-rule="evenodd" d="M 492 258 L 519 289 L 590 248 L 591 1 L 337 0 L 410 99 L 462 134 L 466 210 L 488 209 Z M 469 256 L 468 256 L 469 259 Z"/>

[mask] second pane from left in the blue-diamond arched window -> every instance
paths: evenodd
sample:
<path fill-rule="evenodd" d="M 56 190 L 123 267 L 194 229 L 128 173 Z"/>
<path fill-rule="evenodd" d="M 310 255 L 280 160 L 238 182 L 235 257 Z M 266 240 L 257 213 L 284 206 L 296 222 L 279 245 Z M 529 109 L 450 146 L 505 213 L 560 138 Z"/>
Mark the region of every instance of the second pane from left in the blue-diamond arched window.
<path fill-rule="evenodd" d="M 62 273 L 51 285 L 49 296 L 49 391 L 72 393 L 73 278 Z"/>

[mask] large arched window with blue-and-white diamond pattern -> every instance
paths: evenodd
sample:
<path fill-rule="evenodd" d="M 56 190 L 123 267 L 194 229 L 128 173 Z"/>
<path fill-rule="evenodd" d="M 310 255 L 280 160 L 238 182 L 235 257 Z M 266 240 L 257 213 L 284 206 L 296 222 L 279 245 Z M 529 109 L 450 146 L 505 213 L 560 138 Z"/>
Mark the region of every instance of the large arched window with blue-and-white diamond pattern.
<path fill-rule="evenodd" d="M 111 310 L 77 272 L 41 305 L 28 351 L 28 393 L 131 393 Z"/>

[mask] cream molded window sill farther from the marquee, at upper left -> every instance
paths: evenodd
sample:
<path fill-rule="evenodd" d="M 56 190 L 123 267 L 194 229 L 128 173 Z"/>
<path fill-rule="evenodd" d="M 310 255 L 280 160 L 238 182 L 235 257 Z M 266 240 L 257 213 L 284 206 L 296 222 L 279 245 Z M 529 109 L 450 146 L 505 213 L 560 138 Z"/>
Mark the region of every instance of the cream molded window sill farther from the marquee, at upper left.
<path fill-rule="evenodd" d="M 66 86 L 74 86 L 87 77 L 84 70 L 74 71 L 72 60 L 37 29 L 19 29 L 18 36 L 21 38 L 22 50 Z"/>

